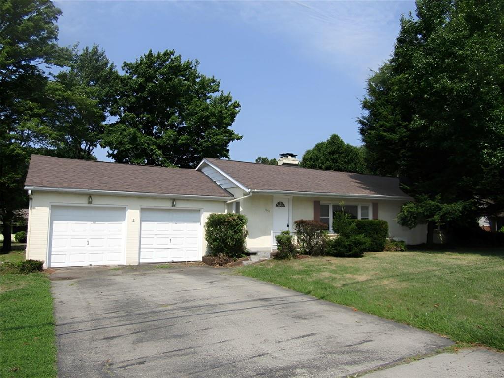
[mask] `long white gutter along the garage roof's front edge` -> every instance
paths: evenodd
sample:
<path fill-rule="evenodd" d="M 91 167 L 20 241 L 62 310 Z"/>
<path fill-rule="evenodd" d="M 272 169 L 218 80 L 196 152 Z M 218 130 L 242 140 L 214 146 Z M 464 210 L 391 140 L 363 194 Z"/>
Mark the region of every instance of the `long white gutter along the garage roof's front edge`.
<path fill-rule="evenodd" d="M 46 186 L 25 186 L 25 190 L 34 192 L 56 192 L 68 194 L 87 194 L 87 195 L 103 195 L 103 196 L 131 196 L 131 197 L 158 197 L 158 198 L 175 198 L 188 200 L 207 200 L 207 201 L 228 201 L 234 197 L 217 197 L 217 196 L 197 196 L 197 195 L 181 195 L 181 194 L 162 194 L 162 193 L 141 193 L 141 192 L 119 192 L 119 191 L 103 191 L 94 189 L 75 189 L 67 187 L 46 187 Z"/>

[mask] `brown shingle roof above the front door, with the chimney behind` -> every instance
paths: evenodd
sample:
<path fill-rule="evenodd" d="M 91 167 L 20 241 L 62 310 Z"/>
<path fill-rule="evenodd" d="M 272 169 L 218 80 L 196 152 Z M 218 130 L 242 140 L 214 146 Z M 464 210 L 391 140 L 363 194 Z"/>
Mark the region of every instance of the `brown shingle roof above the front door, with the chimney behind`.
<path fill-rule="evenodd" d="M 395 177 L 207 159 L 251 190 L 406 197 Z"/>

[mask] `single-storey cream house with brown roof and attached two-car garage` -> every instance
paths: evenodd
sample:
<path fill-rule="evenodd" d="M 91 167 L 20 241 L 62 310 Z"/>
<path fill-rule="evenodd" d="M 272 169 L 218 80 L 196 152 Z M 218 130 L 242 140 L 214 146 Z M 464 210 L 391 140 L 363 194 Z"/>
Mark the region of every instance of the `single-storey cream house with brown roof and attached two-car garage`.
<path fill-rule="evenodd" d="M 203 159 L 197 169 L 32 155 L 26 258 L 46 267 L 201 261 L 210 213 L 247 216 L 247 248 L 270 250 L 297 219 L 331 227 L 341 201 L 359 219 L 385 219 L 390 236 L 422 243 L 426 227 L 395 221 L 411 201 L 399 180 L 357 173 Z"/>

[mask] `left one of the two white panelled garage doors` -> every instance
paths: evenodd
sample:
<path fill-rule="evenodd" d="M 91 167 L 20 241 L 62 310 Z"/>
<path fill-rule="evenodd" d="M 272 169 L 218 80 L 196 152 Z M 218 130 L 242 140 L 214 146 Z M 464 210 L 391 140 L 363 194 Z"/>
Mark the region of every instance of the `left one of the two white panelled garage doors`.
<path fill-rule="evenodd" d="M 50 267 L 124 264 L 125 208 L 51 207 Z"/>

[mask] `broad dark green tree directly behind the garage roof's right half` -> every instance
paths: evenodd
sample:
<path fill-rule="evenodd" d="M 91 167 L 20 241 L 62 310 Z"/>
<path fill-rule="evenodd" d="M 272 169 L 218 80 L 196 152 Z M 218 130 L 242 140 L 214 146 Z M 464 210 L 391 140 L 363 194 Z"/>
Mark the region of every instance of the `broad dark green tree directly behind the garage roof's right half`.
<path fill-rule="evenodd" d="M 198 72 L 198 61 L 174 51 L 149 51 L 124 62 L 116 122 L 107 125 L 102 147 L 115 161 L 194 167 L 203 157 L 229 157 L 230 129 L 239 111 L 220 82 Z"/>

